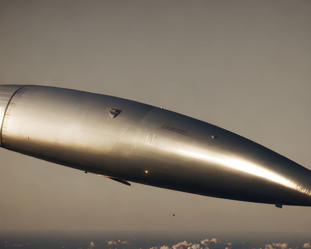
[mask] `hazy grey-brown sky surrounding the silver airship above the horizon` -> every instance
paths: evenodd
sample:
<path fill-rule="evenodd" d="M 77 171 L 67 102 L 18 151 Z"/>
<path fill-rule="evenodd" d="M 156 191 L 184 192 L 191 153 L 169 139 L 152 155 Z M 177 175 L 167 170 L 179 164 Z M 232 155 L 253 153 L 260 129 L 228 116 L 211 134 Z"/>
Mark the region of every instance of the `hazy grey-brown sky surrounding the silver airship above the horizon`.
<path fill-rule="evenodd" d="M 310 44 L 310 1 L 0 0 L 0 84 L 163 106 L 309 169 Z M 311 232 L 310 221 L 310 207 L 129 187 L 0 149 L 0 230 Z"/>

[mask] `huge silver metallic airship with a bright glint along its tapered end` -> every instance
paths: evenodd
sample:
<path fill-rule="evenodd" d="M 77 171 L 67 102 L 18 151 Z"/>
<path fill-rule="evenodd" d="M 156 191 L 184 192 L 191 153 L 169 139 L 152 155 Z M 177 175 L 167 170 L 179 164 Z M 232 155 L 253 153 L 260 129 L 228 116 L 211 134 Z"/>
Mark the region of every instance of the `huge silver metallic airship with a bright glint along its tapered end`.
<path fill-rule="evenodd" d="M 97 93 L 0 85 L 0 147 L 130 182 L 254 203 L 311 206 L 311 171 L 229 130 Z"/>

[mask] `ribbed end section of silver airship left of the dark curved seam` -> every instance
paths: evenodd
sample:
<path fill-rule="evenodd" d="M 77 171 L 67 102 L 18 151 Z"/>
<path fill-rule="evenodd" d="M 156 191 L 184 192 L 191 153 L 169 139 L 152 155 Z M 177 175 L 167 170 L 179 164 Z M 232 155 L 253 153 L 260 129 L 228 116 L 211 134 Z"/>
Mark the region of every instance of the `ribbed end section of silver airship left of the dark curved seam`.
<path fill-rule="evenodd" d="M 7 113 L 7 106 L 10 103 L 14 94 L 24 85 L 0 85 L 0 147 L 2 146 L 2 129 L 3 119 Z"/>

